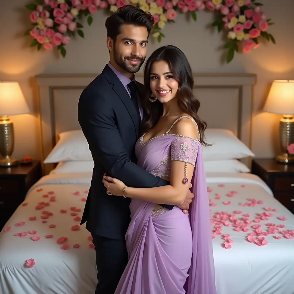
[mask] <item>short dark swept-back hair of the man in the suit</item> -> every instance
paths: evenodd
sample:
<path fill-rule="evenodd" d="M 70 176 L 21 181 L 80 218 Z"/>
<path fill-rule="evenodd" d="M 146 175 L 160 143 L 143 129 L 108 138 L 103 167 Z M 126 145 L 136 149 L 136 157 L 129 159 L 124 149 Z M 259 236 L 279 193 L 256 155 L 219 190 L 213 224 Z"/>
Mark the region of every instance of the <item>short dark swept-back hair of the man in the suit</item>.
<path fill-rule="evenodd" d="M 121 34 L 122 24 L 145 26 L 149 37 L 154 25 L 154 19 L 150 12 L 143 11 L 133 5 L 125 5 L 118 8 L 105 21 L 107 36 L 113 39 L 113 41 L 116 41 L 116 37 Z"/>

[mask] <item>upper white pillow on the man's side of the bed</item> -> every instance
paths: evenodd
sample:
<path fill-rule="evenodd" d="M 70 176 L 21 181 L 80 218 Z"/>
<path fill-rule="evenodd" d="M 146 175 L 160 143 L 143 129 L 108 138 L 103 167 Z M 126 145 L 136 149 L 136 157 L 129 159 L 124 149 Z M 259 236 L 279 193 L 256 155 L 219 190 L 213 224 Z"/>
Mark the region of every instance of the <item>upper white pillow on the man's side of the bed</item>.
<path fill-rule="evenodd" d="M 81 130 L 59 134 L 59 141 L 51 150 L 44 163 L 61 161 L 92 161 L 88 142 Z"/>

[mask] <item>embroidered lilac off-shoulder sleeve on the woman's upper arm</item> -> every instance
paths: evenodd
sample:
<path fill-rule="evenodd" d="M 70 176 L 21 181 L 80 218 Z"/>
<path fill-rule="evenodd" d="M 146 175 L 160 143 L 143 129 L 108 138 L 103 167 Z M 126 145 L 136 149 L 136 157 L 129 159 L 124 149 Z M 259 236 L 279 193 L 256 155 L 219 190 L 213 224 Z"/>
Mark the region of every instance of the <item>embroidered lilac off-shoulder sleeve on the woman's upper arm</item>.
<path fill-rule="evenodd" d="M 171 160 L 191 163 L 195 166 L 198 153 L 198 141 L 195 138 L 176 135 L 171 143 Z"/>

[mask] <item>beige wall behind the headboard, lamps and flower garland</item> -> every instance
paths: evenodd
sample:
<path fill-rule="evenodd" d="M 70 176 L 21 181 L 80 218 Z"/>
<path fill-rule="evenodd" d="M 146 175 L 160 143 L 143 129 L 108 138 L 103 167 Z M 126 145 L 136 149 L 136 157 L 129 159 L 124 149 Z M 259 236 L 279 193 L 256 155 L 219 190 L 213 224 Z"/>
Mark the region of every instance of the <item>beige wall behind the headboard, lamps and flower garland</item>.
<path fill-rule="evenodd" d="M 263 113 L 261 109 L 274 79 L 294 79 L 294 1 L 267 0 L 263 11 L 275 22 L 270 27 L 277 45 L 265 44 L 249 54 L 238 54 L 230 64 L 225 64 L 220 49 L 221 34 L 208 28 L 213 14 L 199 12 L 197 22 L 179 15 L 176 24 L 168 24 L 161 45 L 173 44 L 187 55 L 194 72 L 248 72 L 257 74 L 254 91 L 254 120 L 252 150 L 257 157 L 270 157 L 279 152 L 278 122 L 280 116 Z M 39 130 L 33 77 L 40 73 L 100 73 L 108 62 L 106 49 L 106 14 L 98 11 L 93 24 L 85 24 L 85 39 L 72 40 L 66 58 L 54 52 L 37 52 L 30 49 L 30 37 L 22 37 L 29 28 L 27 1 L 4 0 L 0 3 L 0 81 L 18 81 L 31 114 L 14 116 L 14 157 L 40 158 Z M 278 4 L 279 3 L 279 4 Z M 152 38 L 152 37 L 151 37 Z M 157 41 L 148 44 L 149 53 L 159 46 Z M 1 107 L 1 106 L 0 106 Z M 225 113 L 225 109 L 223 109 Z"/>

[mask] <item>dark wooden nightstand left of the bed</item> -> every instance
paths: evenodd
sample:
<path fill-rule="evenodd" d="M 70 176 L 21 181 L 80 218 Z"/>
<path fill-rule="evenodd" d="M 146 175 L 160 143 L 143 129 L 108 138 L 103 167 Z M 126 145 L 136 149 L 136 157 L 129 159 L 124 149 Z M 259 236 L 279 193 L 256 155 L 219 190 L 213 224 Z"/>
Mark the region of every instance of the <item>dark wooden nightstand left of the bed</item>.
<path fill-rule="evenodd" d="M 0 231 L 41 176 L 40 161 L 0 168 Z"/>

